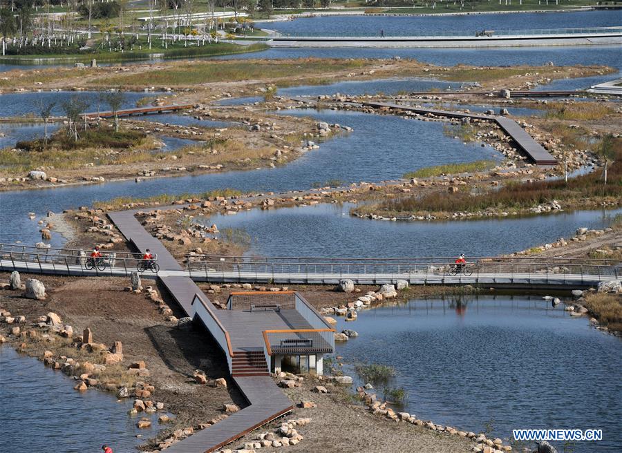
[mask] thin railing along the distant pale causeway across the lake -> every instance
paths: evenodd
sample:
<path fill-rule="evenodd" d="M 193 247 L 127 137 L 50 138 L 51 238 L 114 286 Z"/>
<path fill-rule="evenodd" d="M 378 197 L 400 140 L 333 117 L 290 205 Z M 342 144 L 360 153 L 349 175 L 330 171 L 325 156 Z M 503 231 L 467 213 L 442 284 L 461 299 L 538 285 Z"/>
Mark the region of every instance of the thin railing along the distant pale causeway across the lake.
<path fill-rule="evenodd" d="M 414 33 L 409 35 L 390 35 L 387 34 L 384 38 L 379 37 L 377 32 L 372 34 L 368 32 L 365 34 L 361 31 L 345 31 L 341 33 L 341 35 L 337 36 L 327 36 L 322 35 L 321 32 L 314 32 L 310 30 L 305 30 L 303 32 L 288 32 L 281 33 L 279 36 L 274 37 L 264 37 L 264 40 L 269 39 L 302 39 L 302 38 L 323 38 L 330 40 L 343 40 L 344 38 L 375 38 L 375 39 L 399 39 L 399 38 L 422 38 L 422 37 L 430 37 L 430 38 L 443 38 L 443 37 L 475 37 L 476 32 L 481 32 L 482 30 L 444 30 L 439 32 L 426 32 L 426 33 Z M 581 28 L 533 28 L 533 29 L 505 29 L 505 30 L 487 30 L 492 32 L 492 37 L 508 37 L 508 36 L 516 36 L 516 37 L 536 37 L 536 36 L 551 36 L 551 35 L 560 35 L 560 37 L 570 37 L 570 36 L 582 36 L 582 35 L 622 35 L 622 26 L 613 26 L 613 27 L 581 27 Z M 481 39 L 486 39 L 487 37 L 480 37 Z"/>

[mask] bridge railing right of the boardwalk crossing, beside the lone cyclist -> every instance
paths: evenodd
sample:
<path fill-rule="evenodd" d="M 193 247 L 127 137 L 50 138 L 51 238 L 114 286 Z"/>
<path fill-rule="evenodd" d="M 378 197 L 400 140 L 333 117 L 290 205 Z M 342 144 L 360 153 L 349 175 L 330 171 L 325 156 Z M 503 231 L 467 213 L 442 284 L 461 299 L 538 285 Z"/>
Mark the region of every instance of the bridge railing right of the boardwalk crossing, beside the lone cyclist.
<path fill-rule="evenodd" d="M 313 258 L 313 257 L 225 257 L 188 256 L 190 276 L 206 280 L 274 281 L 288 277 L 292 280 L 312 278 L 365 278 L 382 276 L 385 279 L 433 278 L 447 275 L 455 258 Z M 469 269 L 473 276 L 597 276 L 619 278 L 620 260 L 535 258 L 535 257 L 472 257 Z"/>

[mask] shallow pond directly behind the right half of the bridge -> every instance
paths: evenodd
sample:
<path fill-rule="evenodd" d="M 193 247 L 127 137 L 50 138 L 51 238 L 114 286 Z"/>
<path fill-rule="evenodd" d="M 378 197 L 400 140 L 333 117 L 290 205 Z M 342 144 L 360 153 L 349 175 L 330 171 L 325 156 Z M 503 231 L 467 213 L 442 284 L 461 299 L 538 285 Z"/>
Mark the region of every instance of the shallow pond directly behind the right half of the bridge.
<path fill-rule="evenodd" d="M 574 211 L 523 218 L 390 222 L 352 217 L 352 204 L 253 209 L 212 215 L 206 224 L 245 231 L 253 256 L 496 256 L 607 227 L 616 211 Z M 283 228 L 287 225 L 287 228 Z"/>

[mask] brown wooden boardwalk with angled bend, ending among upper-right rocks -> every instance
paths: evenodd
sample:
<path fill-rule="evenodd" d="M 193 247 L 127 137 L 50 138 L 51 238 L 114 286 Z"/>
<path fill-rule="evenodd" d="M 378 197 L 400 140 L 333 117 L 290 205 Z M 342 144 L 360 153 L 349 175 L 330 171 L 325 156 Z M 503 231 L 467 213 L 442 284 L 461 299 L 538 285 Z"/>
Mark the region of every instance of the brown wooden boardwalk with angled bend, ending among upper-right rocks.
<path fill-rule="evenodd" d="M 557 164 L 557 160 L 553 157 L 545 148 L 540 146 L 536 140 L 531 137 L 528 133 L 525 132 L 525 129 L 520 127 L 516 121 L 513 119 L 502 117 L 502 116 L 493 116 L 493 115 L 482 115 L 479 113 L 461 113 L 461 112 L 451 112 L 447 110 L 436 110 L 433 108 L 420 108 L 420 107 L 412 107 L 412 106 L 403 106 L 400 104 L 394 104 L 391 102 L 361 102 L 362 106 L 369 106 L 373 108 L 393 108 L 396 110 L 406 110 L 408 112 L 415 112 L 421 115 L 431 114 L 439 117 L 448 117 L 448 118 L 470 118 L 470 119 L 483 119 L 486 121 L 496 122 L 500 128 L 507 133 L 516 143 L 516 146 L 520 148 L 520 150 L 529 157 L 531 162 L 534 162 L 536 165 L 543 166 L 552 166 Z"/>

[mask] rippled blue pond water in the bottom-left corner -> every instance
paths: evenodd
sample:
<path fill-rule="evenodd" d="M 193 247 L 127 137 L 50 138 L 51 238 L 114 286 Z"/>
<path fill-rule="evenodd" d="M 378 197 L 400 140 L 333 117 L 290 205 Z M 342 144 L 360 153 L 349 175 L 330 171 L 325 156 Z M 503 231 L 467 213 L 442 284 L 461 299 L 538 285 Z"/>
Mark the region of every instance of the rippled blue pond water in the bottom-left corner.
<path fill-rule="evenodd" d="M 101 452 L 107 443 L 115 453 L 129 453 L 158 432 L 158 414 L 151 415 L 151 427 L 139 430 L 138 418 L 127 415 L 133 400 L 76 392 L 73 379 L 6 345 L 0 347 L 0 370 L 0 452 Z"/>

